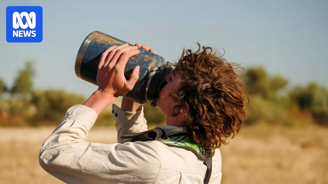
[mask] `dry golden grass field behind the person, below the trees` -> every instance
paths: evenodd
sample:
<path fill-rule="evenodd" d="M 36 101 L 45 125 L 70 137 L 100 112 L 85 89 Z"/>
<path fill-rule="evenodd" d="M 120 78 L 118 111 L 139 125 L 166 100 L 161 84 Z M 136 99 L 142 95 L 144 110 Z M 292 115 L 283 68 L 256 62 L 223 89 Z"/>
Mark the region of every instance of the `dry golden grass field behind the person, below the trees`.
<path fill-rule="evenodd" d="M 0 183 L 62 183 L 41 169 L 38 152 L 51 128 L 0 128 Z M 223 145 L 223 184 L 328 183 L 328 128 L 248 127 Z M 116 132 L 93 128 L 89 141 Z"/>

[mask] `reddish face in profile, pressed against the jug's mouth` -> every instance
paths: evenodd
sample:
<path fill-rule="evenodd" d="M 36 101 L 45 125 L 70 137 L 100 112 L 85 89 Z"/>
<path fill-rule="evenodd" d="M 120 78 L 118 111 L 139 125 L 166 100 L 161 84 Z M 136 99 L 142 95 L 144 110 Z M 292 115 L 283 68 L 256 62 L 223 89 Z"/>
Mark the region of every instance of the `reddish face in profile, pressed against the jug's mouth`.
<path fill-rule="evenodd" d="M 158 107 L 164 112 L 166 115 L 166 121 L 168 124 L 171 124 L 170 122 L 172 120 L 177 121 L 177 117 L 172 116 L 173 107 L 176 105 L 173 98 L 169 96 L 170 92 L 177 89 L 179 86 L 180 80 L 179 76 L 174 76 L 173 73 L 168 74 L 165 77 L 165 80 L 167 84 L 163 87 L 163 89 L 159 93 L 159 98 L 157 100 Z"/>

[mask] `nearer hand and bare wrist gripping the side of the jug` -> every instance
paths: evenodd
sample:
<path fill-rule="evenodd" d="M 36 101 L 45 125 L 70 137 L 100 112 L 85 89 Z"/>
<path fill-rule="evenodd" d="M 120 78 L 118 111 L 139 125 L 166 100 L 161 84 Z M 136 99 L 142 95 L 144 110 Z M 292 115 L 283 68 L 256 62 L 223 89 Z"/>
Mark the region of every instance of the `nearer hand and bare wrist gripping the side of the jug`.
<path fill-rule="evenodd" d="M 124 44 L 108 48 L 100 57 L 97 72 L 96 90 L 84 105 L 92 108 L 98 115 L 119 97 L 131 91 L 139 78 L 139 66 L 134 67 L 129 80 L 124 69 L 130 57 L 140 51 L 137 46 Z"/>

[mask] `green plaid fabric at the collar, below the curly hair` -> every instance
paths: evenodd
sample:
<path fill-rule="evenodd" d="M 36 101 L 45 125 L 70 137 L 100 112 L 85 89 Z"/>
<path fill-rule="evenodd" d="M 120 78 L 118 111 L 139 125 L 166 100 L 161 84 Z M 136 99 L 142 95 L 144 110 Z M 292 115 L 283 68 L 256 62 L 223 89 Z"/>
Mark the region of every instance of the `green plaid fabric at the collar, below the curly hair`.
<path fill-rule="evenodd" d="M 188 136 L 172 136 L 167 139 L 161 140 L 164 144 L 170 144 L 174 146 L 188 146 L 194 149 L 199 155 L 205 153 L 205 148 L 203 145 L 193 143 Z"/>

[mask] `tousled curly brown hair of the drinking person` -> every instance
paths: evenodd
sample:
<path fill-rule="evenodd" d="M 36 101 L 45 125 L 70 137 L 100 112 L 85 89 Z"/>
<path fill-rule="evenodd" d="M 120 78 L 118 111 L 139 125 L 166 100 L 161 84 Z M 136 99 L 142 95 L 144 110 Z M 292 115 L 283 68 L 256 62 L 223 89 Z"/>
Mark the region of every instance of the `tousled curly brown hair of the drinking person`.
<path fill-rule="evenodd" d="M 188 103 L 188 135 L 195 143 L 213 150 L 228 144 L 226 139 L 231 135 L 234 138 L 245 123 L 248 94 L 235 71 L 242 67 L 228 63 L 212 47 L 202 47 L 200 52 L 201 46 L 197 45 L 196 52 L 183 49 L 174 64 L 173 74 L 179 74 L 180 85 L 170 94 L 177 102 L 172 116 L 182 113 Z"/>

